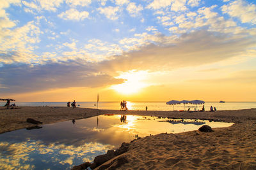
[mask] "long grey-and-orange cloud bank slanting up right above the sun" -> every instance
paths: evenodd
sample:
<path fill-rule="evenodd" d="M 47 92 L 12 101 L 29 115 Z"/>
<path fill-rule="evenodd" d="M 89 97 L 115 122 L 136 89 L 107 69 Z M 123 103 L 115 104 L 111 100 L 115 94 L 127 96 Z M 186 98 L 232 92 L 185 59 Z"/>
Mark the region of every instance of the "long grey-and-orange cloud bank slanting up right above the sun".
<path fill-rule="evenodd" d="M 108 68 L 122 71 L 172 70 L 243 56 L 246 50 L 255 46 L 255 39 L 251 36 L 230 36 L 204 30 L 183 34 L 170 43 L 165 36 L 159 35 L 158 39 L 155 39 L 158 43 L 141 46 L 139 49 L 116 56 L 113 60 L 102 61 L 100 67 L 104 71 Z"/>

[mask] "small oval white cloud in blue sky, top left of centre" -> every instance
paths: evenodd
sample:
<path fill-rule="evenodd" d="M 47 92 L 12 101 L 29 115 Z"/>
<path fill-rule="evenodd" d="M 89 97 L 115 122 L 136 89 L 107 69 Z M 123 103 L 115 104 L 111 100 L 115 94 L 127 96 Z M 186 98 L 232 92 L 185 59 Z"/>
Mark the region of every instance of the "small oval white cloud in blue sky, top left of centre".
<path fill-rule="evenodd" d="M 63 18 L 64 20 L 84 20 L 88 18 L 89 13 L 88 11 L 77 11 L 74 8 L 67 10 L 63 13 L 60 13 L 58 17 Z"/>

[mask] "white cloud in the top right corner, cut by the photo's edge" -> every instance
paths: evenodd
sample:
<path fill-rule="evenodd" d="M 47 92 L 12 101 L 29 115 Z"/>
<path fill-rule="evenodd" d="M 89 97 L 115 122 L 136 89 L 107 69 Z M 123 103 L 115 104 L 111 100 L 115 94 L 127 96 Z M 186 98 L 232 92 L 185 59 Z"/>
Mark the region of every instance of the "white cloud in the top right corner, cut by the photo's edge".
<path fill-rule="evenodd" d="M 228 13 L 231 17 L 236 17 L 242 23 L 249 22 L 256 24 L 256 6 L 248 4 L 246 1 L 237 0 L 221 7 L 223 13 Z"/>

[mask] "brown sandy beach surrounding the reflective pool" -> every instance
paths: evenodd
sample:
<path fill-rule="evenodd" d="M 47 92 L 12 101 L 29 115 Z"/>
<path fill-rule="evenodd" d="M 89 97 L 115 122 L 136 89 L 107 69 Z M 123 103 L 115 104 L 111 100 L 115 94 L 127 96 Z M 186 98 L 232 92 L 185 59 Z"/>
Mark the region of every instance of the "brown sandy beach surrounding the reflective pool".
<path fill-rule="evenodd" d="M 127 144 L 127 152 L 96 169 L 256 169 L 256 109 L 188 113 L 67 107 L 14 107 L 6 110 L 1 107 L 0 133 L 35 126 L 26 122 L 27 118 L 44 125 L 98 114 L 196 118 L 235 124 L 215 128 L 213 132 L 163 133 L 139 138 Z"/>

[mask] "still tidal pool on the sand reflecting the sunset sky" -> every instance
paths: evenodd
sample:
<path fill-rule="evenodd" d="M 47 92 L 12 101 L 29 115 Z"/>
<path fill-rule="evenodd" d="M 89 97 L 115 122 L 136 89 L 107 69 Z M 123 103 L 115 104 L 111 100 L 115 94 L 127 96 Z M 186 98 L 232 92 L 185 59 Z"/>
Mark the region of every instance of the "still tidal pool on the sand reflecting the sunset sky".
<path fill-rule="evenodd" d="M 132 115 L 99 117 L 43 125 L 0 134 L 0 169 L 70 169 L 118 148 L 123 142 L 163 132 L 197 130 L 232 123 Z"/>

